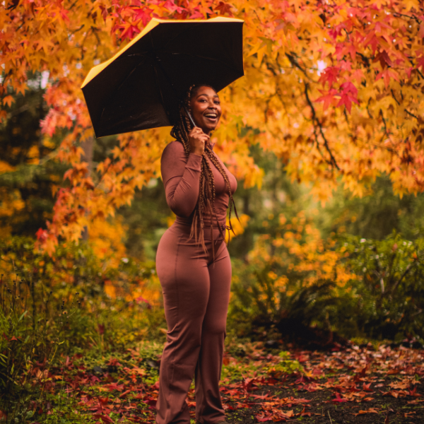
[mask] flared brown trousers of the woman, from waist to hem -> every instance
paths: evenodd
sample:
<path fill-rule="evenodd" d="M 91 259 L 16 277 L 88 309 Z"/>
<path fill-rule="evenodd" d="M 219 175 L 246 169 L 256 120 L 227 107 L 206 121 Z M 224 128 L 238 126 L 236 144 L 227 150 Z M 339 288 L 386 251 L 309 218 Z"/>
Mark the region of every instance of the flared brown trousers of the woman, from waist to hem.
<path fill-rule="evenodd" d="M 211 252 L 211 242 L 206 246 Z M 225 243 L 215 261 L 187 234 L 168 229 L 160 240 L 156 267 L 163 288 L 167 342 L 160 363 L 156 423 L 189 424 L 185 401 L 196 373 L 196 418 L 223 420 L 219 379 L 230 296 L 231 264 Z"/>

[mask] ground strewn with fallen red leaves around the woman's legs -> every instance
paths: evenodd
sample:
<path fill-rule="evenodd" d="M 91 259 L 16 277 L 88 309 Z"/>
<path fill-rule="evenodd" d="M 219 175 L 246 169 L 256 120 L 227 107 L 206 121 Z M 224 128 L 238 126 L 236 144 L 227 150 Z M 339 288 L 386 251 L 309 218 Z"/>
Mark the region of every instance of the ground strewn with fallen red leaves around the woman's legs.
<path fill-rule="evenodd" d="M 46 375 L 47 401 L 34 423 L 153 423 L 161 350 L 160 343 L 146 342 L 101 360 L 64 358 Z M 221 384 L 227 420 L 424 423 L 423 359 L 424 351 L 402 346 L 327 353 L 230 346 Z M 194 423 L 194 387 L 187 402 Z"/>

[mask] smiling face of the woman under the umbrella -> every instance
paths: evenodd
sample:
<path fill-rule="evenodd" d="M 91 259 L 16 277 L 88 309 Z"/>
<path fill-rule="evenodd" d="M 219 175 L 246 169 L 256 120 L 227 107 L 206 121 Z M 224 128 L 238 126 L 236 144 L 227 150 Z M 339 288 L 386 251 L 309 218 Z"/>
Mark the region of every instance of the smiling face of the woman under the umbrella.
<path fill-rule="evenodd" d="M 190 106 L 196 126 L 205 134 L 211 134 L 211 131 L 216 129 L 221 115 L 218 94 L 213 88 L 202 86 L 190 100 Z"/>

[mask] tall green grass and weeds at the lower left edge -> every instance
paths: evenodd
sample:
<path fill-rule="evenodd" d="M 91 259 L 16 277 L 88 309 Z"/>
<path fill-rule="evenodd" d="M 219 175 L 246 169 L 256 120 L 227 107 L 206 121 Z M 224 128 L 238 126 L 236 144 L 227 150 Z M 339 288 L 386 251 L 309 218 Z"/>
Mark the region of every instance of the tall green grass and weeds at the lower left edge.
<path fill-rule="evenodd" d="M 31 418 L 31 402 L 44 399 L 50 369 L 76 312 L 78 293 L 69 304 L 52 305 L 52 292 L 42 293 L 40 300 L 38 292 L 33 281 L 16 278 L 10 285 L 1 278 L 0 411 L 8 411 L 8 423 Z"/>

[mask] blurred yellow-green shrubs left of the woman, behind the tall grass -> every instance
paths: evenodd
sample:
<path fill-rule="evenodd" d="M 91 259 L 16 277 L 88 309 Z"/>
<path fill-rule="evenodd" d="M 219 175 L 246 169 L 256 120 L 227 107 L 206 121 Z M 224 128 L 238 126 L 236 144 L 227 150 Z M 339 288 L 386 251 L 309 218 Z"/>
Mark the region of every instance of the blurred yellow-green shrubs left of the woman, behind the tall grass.
<path fill-rule="evenodd" d="M 71 243 L 60 245 L 49 257 L 23 237 L 1 242 L 0 259 L 4 281 L 18 275 L 18 281 L 28 282 L 31 288 L 27 294 L 32 296 L 33 310 L 28 317 L 40 319 L 37 314 L 45 311 L 49 292 L 49 302 L 57 310 L 62 302 L 71 302 L 76 291 L 80 293 L 81 311 L 73 314 L 74 325 L 67 329 L 62 348 L 93 343 L 101 351 L 105 346 L 122 346 L 130 338 L 163 335 L 162 292 L 154 263 L 123 258 L 116 264 L 100 260 L 86 245 Z"/>

